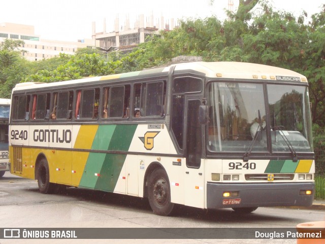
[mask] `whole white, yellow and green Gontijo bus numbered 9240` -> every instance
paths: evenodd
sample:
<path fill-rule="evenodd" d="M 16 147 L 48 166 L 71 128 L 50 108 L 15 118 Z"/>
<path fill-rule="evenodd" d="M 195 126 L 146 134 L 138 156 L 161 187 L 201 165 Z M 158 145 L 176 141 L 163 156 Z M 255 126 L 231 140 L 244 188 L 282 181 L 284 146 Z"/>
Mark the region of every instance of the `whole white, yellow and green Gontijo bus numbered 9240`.
<path fill-rule="evenodd" d="M 14 175 L 41 193 L 73 186 L 174 204 L 312 204 L 308 83 L 287 69 L 193 62 L 12 92 Z"/>

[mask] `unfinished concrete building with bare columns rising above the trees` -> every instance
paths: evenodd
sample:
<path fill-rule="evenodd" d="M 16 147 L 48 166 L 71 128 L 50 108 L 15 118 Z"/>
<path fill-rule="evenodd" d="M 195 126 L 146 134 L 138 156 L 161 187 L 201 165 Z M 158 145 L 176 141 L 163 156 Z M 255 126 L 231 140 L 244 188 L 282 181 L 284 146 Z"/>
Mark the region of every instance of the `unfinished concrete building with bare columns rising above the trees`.
<path fill-rule="evenodd" d="M 99 41 L 99 46 L 96 45 L 96 47 L 107 52 L 115 49 L 120 51 L 130 51 L 139 43 L 146 42 L 148 36 L 159 34 L 160 30 L 172 30 L 175 28 L 174 19 L 165 22 L 163 16 L 154 23 L 152 15 L 149 18 L 146 18 L 146 22 L 144 15 L 140 15 L 133 28 L 130 27 L 129 22 L 130 21 L 127 17 L 124 25 L 120 25 L 120 20 L 117 17 L 114 23 L 114 31 L 109 33 L 106 32 L 105 19 L 103 32 L 96 33 L 95 22 L 92 22 L 93 45 L 95 45 L 96 41 Z"/>

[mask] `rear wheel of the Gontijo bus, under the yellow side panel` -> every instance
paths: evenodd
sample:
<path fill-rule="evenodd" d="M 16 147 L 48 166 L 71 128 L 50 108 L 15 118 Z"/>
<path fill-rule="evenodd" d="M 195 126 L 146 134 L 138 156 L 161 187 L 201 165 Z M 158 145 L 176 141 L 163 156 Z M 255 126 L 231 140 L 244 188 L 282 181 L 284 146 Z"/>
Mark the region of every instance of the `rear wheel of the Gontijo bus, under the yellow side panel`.
<path fill-rule="evenodd" d="M 53 192 L 55 184 L 50 183 L 49 165 L 45 158 L 42 158 L 37 168 L 37 183 L 39 190 L 43 194 L 50 194 Z"/>

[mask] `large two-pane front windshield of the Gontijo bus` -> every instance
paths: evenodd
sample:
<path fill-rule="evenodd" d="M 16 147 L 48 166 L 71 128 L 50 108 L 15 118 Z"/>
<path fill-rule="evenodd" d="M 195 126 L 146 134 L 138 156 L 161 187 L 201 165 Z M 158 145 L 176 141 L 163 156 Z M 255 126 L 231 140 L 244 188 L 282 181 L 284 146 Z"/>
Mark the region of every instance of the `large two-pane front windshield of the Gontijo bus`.
<path fill-rule="evenodd" d="M 272 152 L 311 152 L 308 88 L 273 84 L 266 88 L 267 104 L 263 84 L 210 83 L 209 151 L 267 152 L 272 146 Z"/>

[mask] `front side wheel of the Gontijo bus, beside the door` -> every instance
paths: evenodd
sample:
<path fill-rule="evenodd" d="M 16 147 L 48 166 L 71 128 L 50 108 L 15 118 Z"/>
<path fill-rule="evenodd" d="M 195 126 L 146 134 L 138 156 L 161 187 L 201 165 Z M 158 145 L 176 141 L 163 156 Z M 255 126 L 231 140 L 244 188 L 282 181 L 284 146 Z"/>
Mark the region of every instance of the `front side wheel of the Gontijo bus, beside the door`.
<path fill-rule="evenodd" d="M 149 177 L 148 198 L 153 213 L 168 216 L 174 203 L 171 202 L 171 188 L 164 169 L 155 169 Z"/>

